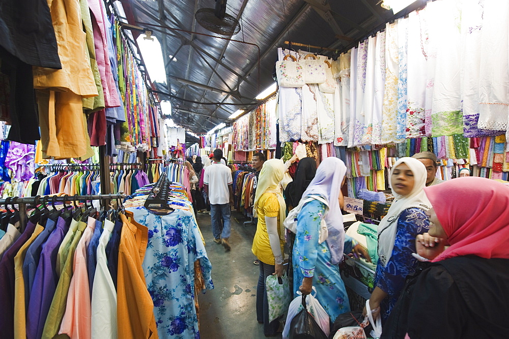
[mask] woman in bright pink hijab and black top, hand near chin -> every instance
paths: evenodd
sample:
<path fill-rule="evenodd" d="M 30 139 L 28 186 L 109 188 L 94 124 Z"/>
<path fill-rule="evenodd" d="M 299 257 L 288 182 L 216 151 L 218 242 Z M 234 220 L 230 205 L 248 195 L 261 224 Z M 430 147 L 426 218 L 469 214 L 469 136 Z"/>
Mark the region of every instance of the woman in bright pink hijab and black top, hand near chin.
<path fill-rule="evenodd" d="M 382 338 L 507 337 L 509 189 L 463 177 L 425 192 L 430 230 L 416 256 L 431 262 L 409 279 Z"/>

